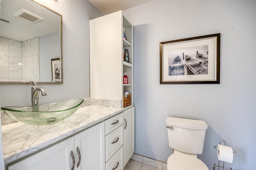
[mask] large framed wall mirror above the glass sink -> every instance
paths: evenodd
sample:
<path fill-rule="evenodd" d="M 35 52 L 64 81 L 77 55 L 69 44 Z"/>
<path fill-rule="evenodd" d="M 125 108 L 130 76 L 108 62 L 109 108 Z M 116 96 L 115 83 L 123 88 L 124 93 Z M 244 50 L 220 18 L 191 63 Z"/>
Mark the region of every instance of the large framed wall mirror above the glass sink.
<path fill-rule="evenodd" d="M 35 0 L 0 4 L 0 84 L 62 83 L 62 15 Z"/>

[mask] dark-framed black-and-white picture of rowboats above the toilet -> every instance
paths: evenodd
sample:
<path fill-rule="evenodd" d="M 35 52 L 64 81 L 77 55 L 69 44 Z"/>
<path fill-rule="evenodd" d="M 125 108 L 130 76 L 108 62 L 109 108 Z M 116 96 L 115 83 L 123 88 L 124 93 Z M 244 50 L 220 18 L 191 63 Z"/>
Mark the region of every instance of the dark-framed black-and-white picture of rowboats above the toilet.
<path fill-rule="evenodd" d="M 220 33 L 160 42 L 160 84 L 220 83 Z"/>

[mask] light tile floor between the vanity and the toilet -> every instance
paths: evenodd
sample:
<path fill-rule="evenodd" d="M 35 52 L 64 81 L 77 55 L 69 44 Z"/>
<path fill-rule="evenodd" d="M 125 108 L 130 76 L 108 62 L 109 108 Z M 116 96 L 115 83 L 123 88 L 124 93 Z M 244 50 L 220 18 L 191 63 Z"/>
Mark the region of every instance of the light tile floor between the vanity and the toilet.
<path fill-rule="evenodd" d="M 162 170 L 162 169 L 130 159 L 126 164 L 126 166 L 124 167 L 124 170 Z"/>

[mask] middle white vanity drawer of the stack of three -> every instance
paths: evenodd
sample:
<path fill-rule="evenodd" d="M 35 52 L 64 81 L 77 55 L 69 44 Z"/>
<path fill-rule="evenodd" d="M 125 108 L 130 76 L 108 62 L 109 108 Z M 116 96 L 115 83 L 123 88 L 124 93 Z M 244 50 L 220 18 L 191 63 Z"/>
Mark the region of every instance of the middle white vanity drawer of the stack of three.
<path fill-rule="evenodd" d="M 105 136 L 105 150 L 106 150 L 106 159 L 105 162 L 114 155 L 114 153 L 124 144 L 124 134 L 123 127 L 120 126 L 116 128 L 113 132 Z"/>

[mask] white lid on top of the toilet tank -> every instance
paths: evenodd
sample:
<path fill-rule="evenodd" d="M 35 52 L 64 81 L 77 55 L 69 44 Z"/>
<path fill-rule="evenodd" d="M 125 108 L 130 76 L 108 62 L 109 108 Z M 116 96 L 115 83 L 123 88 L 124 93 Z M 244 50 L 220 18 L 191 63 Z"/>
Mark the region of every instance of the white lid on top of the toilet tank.
<path fill-rule="evenodd" d="M 166 124 L 174 127 L 189 128 L 189 129 L 206 130 L 208 128 L 207 124 L 204 121 L 182 119 L 182 118 L 176 118 L 176 117 L 167 117 Z"/>

